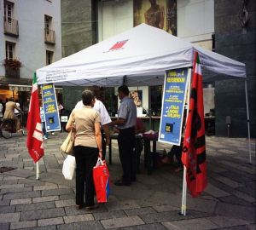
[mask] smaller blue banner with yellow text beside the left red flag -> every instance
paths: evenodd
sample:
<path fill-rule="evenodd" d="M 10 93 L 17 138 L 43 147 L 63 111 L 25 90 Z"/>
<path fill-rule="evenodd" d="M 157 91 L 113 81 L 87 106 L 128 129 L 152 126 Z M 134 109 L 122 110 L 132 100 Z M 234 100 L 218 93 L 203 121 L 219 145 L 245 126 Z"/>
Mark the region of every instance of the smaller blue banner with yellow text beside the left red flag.
<path fill-rule="evenodd" d="M 60 116 L 53 83 L 42 85 L 45 128 L 47 132 L 61 130 Z"/>

